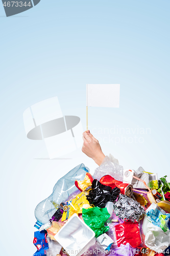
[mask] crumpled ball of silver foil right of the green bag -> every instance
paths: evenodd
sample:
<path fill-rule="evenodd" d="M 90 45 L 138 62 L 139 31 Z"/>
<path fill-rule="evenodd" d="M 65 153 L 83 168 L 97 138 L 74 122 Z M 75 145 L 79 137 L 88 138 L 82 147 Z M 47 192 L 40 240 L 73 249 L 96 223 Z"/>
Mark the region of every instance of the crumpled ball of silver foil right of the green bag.
<path fill-rule="evenodd" d="M 113 208 L 115 214 L 124 221 L 139 222 L 145 214 L 144 208 L 137 201 L 123 194 L 119 194 Z"/>

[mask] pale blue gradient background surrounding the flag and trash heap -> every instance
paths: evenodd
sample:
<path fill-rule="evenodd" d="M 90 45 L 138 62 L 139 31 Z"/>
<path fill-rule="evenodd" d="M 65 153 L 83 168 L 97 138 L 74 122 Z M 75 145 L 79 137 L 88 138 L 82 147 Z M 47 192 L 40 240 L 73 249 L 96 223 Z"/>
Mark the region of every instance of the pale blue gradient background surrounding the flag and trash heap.
<path fill-rule="evenodd" d="M 86 83 L 120 83 L 120 108 L 89 108 L 90 130 L 150 128 L 143 143 L 94 136 L 125 168 L 169 174 L 169 8 L 168 0 L 41 0 L 7 18 L 0 3 L 1 255 L 32 255 L 36 205 L 77 164 L 96 166 L 80 148 L 70 160 L 35 159 L 47 152 L 27 139 L 22 114 L 36 102 L 58 96 L 85 130 Z"/>

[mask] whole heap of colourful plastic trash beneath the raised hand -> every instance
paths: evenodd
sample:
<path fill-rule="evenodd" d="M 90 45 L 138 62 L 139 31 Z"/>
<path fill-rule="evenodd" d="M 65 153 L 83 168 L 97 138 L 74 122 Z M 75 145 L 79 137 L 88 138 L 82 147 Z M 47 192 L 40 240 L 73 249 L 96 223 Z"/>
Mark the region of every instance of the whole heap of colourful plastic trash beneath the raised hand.
<path fill-rule="evenodd" d="M 35 209 L 34 256 L 170 255 L 170 175 L 124 169 L 111 155 L 84 164 Z"/>

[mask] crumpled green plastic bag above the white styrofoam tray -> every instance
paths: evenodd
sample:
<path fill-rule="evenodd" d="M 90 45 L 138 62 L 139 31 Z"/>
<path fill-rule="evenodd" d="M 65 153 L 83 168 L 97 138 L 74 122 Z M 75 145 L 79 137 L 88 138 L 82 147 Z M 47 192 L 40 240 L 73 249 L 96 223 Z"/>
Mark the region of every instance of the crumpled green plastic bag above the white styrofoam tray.
<path fill-rule="evenodd" d="M 109 226 L 105 226 L 105 222 L 110 218 L 106 207 L 83 208 L 82 217 L 84 222 L 95 232 L 96 238 L 109 230 Z"/>

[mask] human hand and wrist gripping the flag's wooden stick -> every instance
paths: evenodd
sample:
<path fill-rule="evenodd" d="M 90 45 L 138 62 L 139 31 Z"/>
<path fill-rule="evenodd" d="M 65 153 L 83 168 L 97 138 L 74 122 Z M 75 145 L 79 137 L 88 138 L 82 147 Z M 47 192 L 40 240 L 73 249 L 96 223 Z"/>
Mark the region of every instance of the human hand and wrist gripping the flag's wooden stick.
<path fill-rule="evenodd" d="M 100 165 L 105 155 L 102 152 L 99 141 L 92 136 L 89 130 L 83 133 L 83 140 L 82 152 L 92 158 L 96 164 Z"/>

